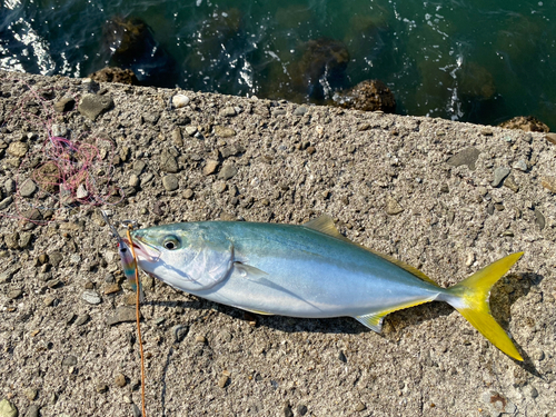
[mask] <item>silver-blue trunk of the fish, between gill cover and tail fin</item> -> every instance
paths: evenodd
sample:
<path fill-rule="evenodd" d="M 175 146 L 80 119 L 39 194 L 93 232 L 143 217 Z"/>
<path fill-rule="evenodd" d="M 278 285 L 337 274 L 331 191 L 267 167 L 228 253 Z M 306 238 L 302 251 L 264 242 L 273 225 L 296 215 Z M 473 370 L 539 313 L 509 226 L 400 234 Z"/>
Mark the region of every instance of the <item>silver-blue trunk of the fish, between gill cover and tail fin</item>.
<path fill-rule="evenodd" d="M 443 291 L 364 248 L 309 228 L 279 225 L 271 235 L 264 224 L 240 235 L 237 229 L 238 224 L 219 225 L 234 247 L 228 276 L 192 294 L 247 310 L 324 318 L 365 316 Z"/>

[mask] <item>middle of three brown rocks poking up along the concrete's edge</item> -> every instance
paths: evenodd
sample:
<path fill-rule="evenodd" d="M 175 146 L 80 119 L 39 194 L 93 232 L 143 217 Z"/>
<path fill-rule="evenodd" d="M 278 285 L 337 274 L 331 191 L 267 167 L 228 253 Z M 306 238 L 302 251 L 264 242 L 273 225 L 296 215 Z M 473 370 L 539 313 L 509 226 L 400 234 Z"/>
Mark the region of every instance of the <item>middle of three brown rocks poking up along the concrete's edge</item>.
<path fill-rule="evenodd" d="M 332 103 L 346 109 L 386 113 L 396 111 L 396 99 L 390 89 L 380 80 L 366 80 L 349 90 L 337 92 Z"/>

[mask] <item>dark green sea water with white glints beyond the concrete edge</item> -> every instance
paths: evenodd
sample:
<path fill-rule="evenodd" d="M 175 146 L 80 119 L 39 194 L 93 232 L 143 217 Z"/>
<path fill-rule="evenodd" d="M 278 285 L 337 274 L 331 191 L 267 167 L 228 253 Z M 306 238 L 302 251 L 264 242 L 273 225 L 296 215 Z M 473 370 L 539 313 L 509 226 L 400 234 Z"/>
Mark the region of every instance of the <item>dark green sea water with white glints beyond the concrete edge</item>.
<path fill-rule="evenodd" d="M 125 66 L 143 82 L 315 101 L 306 52 L 324 42 L 319 53 L 342 48 L 347 60 L 320 101 L 380 79 L 399 113 L 487 125 L 530 115 L 556 129 L 547 0 L 2 1 L 0 68 L 9 71 L 86 77 L 115 63 L 110 21 L 135 18 L 149 28 L 151 53 Z"/>

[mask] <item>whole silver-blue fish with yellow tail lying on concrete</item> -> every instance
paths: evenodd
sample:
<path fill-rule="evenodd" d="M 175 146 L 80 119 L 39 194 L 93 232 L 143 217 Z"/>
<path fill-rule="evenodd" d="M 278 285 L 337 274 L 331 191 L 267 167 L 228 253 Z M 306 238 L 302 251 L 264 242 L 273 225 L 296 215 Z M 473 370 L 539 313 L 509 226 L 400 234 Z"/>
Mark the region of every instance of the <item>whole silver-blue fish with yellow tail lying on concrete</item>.
<path fill-rule="evenodd" d="M 523 252 L 443 288 L 417 268 L 349 240 L 327 215 L 304 225 L 200 221 L 131 235 L 140 269 L 215 302 L 261 315 L 353 317 L 380 332 L 393 311 L 446 301 L 504 354 L 523 360 L 488 301 Z"/>

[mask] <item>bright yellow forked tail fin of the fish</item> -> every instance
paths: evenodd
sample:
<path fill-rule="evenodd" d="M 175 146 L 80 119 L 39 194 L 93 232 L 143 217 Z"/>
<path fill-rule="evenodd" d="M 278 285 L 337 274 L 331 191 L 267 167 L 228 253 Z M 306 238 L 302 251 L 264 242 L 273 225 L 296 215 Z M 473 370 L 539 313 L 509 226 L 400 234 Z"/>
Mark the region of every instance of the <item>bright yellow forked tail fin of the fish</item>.
<path fill-rule="evenodd" d="M 488 297 L 493 286 L 517 262 L 523 252 L 512 254 L 480 269 L 464 281 L 448 288 L 450 304 L 467 321 L 509 357 L 523 360 L 506 331 L 490 315 Z"/>

